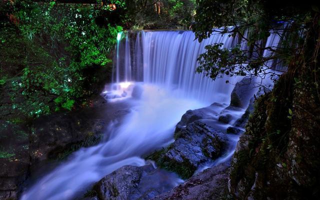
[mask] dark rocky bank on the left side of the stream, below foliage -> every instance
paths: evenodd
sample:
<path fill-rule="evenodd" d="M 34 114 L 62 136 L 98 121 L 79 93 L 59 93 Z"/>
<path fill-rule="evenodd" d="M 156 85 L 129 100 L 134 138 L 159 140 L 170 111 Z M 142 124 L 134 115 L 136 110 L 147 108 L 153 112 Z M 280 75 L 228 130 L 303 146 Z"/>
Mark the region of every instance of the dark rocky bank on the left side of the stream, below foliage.
<path fill-rule="evenodd" d="M 98 143 L 111 120 L 127 113 L 126 102 L 106 103 L 101 96 L 92 106 L 68 113 L 41 116 L 34 121 L 0 121 L 0 199 L 17 199 L 25 181 L 50 162 L 83 146 Z"/>

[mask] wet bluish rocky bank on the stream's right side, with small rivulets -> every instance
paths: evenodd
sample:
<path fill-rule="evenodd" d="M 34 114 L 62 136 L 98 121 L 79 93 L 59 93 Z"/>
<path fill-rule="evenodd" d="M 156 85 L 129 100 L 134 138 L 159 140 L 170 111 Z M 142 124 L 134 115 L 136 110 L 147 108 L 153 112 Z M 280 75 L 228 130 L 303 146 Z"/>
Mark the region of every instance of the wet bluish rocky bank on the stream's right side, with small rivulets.
<path fill-rule="evenodd" d="M 175 140 L 146 157 L 154 160 L 157 168 L 150 164 L 123 166 L 95 183 L 84 199 L 231 199 L 227 188 L 231 158 L 227 150 L 235 142 L 232 138 L 243 132 L 255 99 L 253 85 L 246 83 L 247 79 L 237 83 L 228 105 L 212 103 L 186 111 L 176 125 Z M 249 94 L 241 91 L 249 92 L 249 88 L 252 97 L 244 99 L 242 95 Z M 198 172 L 197 169 L 214 163 L 218 157 L 225 160 Z M 168 172 L 158 174 L 163 169 L 177 173 L 185 182 L 176 187 L 168 185 L 174 181 L 170 175 L 163 176 Z M 156 181 L 145 184 L 149 178 Z"/>

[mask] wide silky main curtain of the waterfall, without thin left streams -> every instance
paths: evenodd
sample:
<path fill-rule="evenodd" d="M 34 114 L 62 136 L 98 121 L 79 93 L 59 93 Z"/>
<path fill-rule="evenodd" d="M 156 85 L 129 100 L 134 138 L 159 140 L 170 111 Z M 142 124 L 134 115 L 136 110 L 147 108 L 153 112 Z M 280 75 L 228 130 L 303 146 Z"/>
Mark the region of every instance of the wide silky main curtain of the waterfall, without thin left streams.
<path fill-rule="evenodd" d="M 207 104 L 227 102 L 233 84 L 241 77 L 222 77 L 213 81 L 195 72 L 197 57 L 212 43 L 231 46 L 233 38 L 227 34 L 213 35 L 201 43 L 191 31 L 142 32 L 144 82 L 161 84 L 176 90 L 179 96 L 193 98 Z M 163 48 L 162 46 L 167 46 Z M 231 84 L 226 84 L 229 80 Z"/>

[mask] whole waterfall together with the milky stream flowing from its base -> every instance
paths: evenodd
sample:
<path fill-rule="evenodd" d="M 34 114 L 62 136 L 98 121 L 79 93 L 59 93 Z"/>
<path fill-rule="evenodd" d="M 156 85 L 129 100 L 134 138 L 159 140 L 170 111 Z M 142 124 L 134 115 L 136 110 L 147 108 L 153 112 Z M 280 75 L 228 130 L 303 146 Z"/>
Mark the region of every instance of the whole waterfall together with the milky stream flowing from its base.
<path fill-rule="evenodd" d="M 136 83 L 142 89 L 141 96 L 126 99 L 132 104 L 131 111 L 121 124 L 106 132 L 107 141 L 73 153 L 28 188 L 22 200 L 72 199 L 125 164 L 143 165 L 143 154 L 172 141 L 174 126 L 187 109 L 214 101 L 228 103 L 234 87 L 231 83 L 241 78 L 212 81 L 194 72 L 196 59 L 205 45 L 215 42 L 222 42 L 225 47 L 233 45 L 235 39 L 227 35 L 213 34 L 199 43 L 191 31 L 142 31 L 135 42 L 130 42 L 126 33 L 123 45 L 122 34 L 118 34 L 114 84 L 110 86 L 110 90 L 116 88 L 120 92 L 104 94 L 128 96 L 126 90 L 132 90 L 132 81 L 142 81 Z M 134 50 L 130 49 L 133 47 Z M 226 79 L 231 83 L 226 84 Z"/>

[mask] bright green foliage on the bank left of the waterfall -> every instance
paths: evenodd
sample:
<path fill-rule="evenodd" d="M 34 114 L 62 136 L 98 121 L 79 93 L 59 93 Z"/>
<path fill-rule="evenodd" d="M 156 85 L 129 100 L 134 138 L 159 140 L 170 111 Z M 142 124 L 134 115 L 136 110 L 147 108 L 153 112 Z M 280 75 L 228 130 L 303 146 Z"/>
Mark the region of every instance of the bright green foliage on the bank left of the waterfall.
<path fill-rule="evenodd" d="M 110 70 L 109 55 L 122 31 L 118 24 L 126 20 L 125 1 L 110 2 L 116 9 L 100 3 L 1 2 L 6 14 L 0 20 L 0 85 L 18 76 L 27 98 L 42 92 L 55 99 L 51 107 L 34 106 L 33 115 L 71 110 L 82 102 L 100 81 L 99 71 Z"/>

